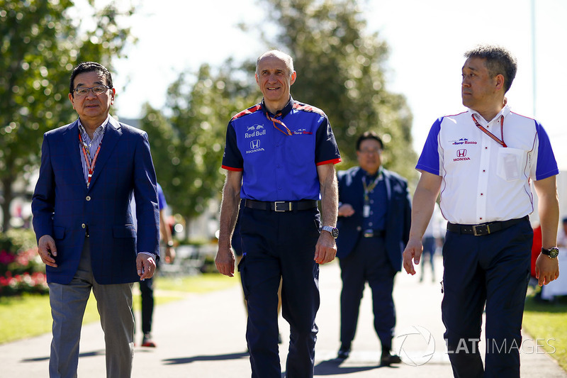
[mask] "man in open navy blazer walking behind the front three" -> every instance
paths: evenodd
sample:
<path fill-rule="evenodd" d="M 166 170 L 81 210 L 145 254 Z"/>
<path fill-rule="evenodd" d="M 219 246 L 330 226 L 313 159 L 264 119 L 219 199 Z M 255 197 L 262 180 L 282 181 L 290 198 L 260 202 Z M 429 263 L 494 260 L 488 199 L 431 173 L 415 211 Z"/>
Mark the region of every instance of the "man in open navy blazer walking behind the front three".
<path fill-rule="evenodd" d="M 339 238 L 341 267 L 341 348 L 337 358 L 349 357 L 357 330 L 364 285 L 372 290 L 374 329 L 382 345 L 381 365 L 401 362 L 391 354 L 395 307 L 394 276 L 402 267 L 408 242 L 411 202 L 408 182 L 383 169 L 383 143 L 374 132 L 357 140 L 359 167 L 338 172 Z"/>

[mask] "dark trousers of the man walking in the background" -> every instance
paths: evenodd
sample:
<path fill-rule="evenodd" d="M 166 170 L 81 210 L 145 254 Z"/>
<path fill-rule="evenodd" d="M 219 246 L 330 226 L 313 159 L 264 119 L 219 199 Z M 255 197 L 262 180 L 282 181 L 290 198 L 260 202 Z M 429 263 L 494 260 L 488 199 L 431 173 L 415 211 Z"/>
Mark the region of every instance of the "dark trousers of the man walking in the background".
<path fill-rule="evenodd" d="M 341 267 L 341 344 L 351 345 L 357 331 L 359 308 L 364 285 L 372 290 L 374 329 L 382 350 L 392 348 L 395 327 L 395 307 L 392 297 L 395 271 L 386 254 L 384 238 L 360 238 L 347 257 L 339 260 Z"/>

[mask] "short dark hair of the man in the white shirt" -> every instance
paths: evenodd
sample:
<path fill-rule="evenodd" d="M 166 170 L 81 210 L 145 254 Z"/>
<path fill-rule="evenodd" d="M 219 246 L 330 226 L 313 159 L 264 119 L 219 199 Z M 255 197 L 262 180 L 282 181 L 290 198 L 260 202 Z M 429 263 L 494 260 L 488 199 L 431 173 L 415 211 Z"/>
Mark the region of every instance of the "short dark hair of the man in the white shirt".
<path fill-rule="evenodd" d="M 478 45 L 472 50 L 468 50 L 464 55 L 469 57 L 479 57 L 485 60 L 485 67 L 490 77 L 502 74 L 504 77 L 504 93 L 506 93 L 516 77 L 517 60 L 512 53 L 505 48 L 497 45 Z"/>

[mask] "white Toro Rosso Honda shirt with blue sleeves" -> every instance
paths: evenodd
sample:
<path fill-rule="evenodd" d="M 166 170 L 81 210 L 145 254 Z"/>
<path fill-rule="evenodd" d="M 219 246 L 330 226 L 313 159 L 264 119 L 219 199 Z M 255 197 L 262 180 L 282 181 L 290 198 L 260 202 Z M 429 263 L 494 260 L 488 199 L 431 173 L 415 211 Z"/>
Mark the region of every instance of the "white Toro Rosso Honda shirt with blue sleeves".
<path fill-rule="evenodd" d="M 507 147 L 478 128 L 473 115 Z M 559 173 L 544 128 L 532 118 L 512 113 L 509 106 L 490 122 L 471 109 L 437 119 L 415 168 L 442 176 L 443 216 L 463 224 L 506 221 L 532 213 L 530 179 Z"/>

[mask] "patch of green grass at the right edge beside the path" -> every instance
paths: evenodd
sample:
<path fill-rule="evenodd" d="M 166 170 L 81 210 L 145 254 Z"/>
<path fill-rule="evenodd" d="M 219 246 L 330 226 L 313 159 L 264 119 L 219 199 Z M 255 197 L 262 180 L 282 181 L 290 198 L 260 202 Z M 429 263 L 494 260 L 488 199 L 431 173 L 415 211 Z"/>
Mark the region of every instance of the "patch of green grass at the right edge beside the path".
<path fill-rule="evenodd" d="M 567 370 L 567 297 L 541 302 L 529 295 L 524 310 L 524 330 L 544 345 L 546 352 Z"/>

